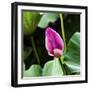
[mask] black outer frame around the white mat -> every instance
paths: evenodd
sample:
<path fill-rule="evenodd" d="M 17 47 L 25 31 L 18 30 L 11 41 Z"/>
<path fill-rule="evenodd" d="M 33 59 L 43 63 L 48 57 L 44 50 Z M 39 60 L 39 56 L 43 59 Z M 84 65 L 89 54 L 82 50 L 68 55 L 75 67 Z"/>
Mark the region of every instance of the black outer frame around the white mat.
<path fill-rule="evenodd" d="M 34 83 L 34 84 L 18 84 L 18 6 L 44 6 L 44 7 L 58 7 L 58 8 L 74 8 L 85 10 L 85 80 L 78 81 L 64 81 L 64 82 L 47 82 L 47 83 Z M 43 3 L 25 3 L 14 2 L 11 4 L 11 86 L 24 87 L 24 86 L 41 86 L 41 85 L 58 85 L 58 84 L 74 84 L 74 83 L 87 83 L 88 82 L 88 7 L 87 6 L 73 6 L 73 5 L 58 5 L 58 4 L 43 4 Z"/>

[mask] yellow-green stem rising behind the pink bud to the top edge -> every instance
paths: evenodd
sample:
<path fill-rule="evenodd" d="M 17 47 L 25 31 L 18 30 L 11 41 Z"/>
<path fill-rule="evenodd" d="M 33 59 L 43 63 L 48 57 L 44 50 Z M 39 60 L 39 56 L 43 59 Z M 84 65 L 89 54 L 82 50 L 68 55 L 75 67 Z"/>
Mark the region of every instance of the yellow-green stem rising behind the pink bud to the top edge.
<path fill-rule="evenodd" d="M 64 40 L 64 52 L 66 51 L 66 39 L 65 39 L 65 31 L 64 31 L 64 22 L 63 22 L 63 14 L 60 13 L 60 21 L 61 21 L 61 31 L 62 31 L 62 37 Z"/>

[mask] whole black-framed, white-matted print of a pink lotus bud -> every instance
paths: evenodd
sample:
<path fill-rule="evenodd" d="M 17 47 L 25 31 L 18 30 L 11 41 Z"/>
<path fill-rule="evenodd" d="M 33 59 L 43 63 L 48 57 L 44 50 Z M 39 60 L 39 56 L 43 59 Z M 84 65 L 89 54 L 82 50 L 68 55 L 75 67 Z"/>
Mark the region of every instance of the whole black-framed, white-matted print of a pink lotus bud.
<path fill-rule="evenodd" d="M 14 2 L 11 85 L 87 82 L 87 7 Z"/>

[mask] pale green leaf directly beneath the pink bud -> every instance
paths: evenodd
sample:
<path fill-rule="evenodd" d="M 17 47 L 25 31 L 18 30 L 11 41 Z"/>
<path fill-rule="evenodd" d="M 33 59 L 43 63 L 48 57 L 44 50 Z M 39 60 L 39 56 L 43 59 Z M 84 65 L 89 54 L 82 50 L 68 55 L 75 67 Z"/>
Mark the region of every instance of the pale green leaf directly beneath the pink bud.
<path fill-rule="evenodd" d="M 63 71 L 58 58 L 47 62 L 43 68 L 43 76 L 62 76 Z"/>

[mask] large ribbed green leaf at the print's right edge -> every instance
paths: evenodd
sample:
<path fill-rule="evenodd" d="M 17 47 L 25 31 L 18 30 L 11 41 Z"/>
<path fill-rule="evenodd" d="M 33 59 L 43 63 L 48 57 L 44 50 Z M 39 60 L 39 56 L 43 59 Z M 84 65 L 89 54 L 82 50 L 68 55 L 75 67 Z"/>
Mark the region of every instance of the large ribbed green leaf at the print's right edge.
<path fill-rule="evenodd" d="M 80 33 L 76 32 L 71 37 L 63 62 L 68 74 L 80 73 Z"/>

